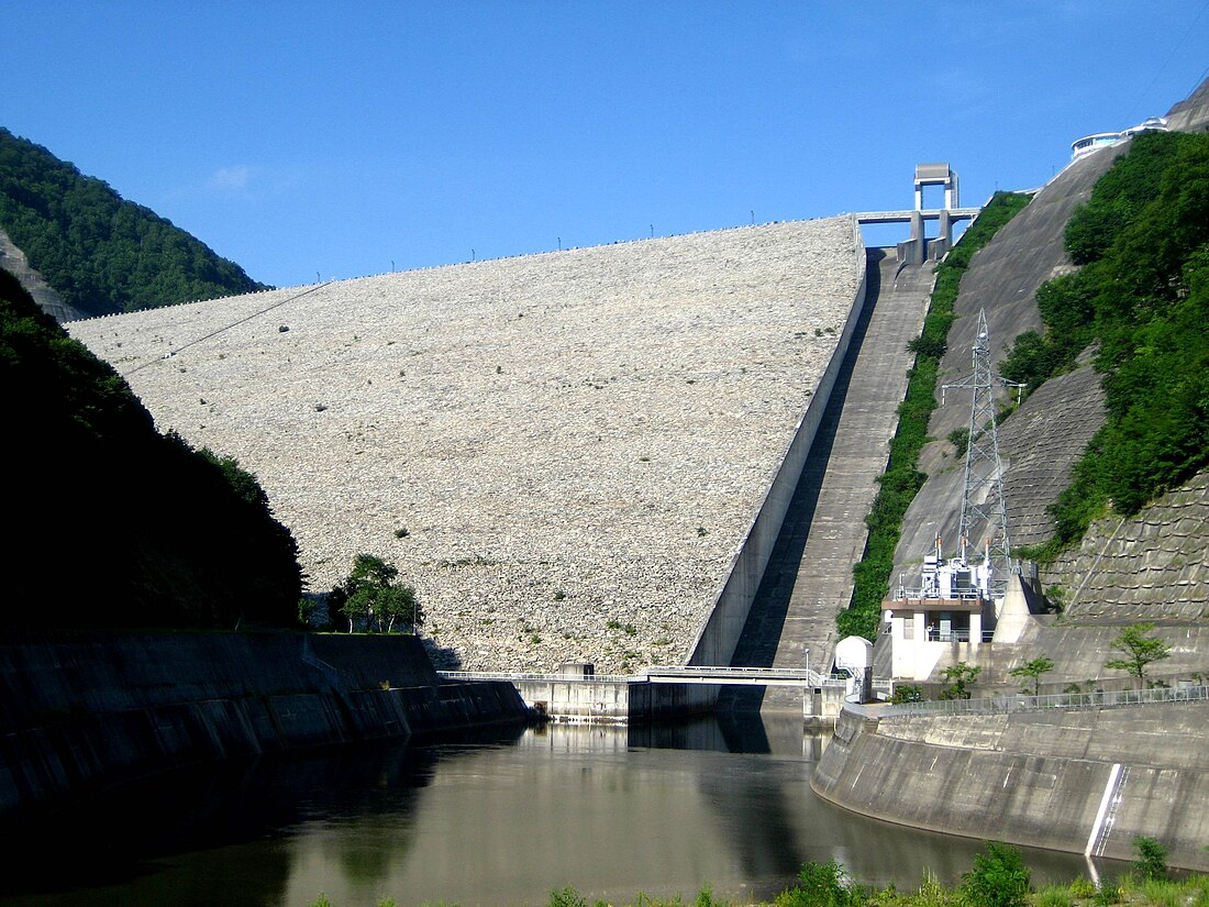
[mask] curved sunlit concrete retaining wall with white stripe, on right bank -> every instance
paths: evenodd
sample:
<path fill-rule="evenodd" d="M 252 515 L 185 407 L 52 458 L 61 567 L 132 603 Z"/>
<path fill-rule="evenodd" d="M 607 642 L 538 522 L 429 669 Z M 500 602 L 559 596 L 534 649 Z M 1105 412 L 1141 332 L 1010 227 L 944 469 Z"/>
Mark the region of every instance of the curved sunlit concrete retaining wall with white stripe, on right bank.
<path fill-rule="evenodd" d="M 1204 704 L 959 720 L 845 710 L 811 787 L 899 825 L 1093 856 L 1133 859 L 1149 834 L 1173 865 L 1204 870 L 1207 721 Z"/>

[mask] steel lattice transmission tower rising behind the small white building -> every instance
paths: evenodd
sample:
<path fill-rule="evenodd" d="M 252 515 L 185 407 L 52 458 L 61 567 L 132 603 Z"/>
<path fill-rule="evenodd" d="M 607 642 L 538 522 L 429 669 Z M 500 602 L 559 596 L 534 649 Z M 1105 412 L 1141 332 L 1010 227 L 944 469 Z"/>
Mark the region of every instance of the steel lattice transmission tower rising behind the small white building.
<path fill-rule="evenodd" d="M 999 431 L 995 424 L 995 388 L 1024 387 L 1000 377 L 990 366 L 990 331 L 987 310 L 978 312 L 978 333 L 973 345 L 973 374 L 941 388 L 941 403 L 949 389 L 971 389 L 970 440 L 966 445 L 965 484 L 961 495 L 961 522 L 958 527 L 959 556 L 967 559 L 971 543 L 982 542 L 990 561 L 990 593 L 1001 597 L 1007 590 L 1007 578 L 1017 572 L 1012 560 L 1012 542 L 1007 531 L 1007 509 L 1003 502 L 1003 464 L 999 457 Z M 971 538 L 979 527 L 980 539 Z M 967 561 L 968 562 L 968 561 Z"/>

